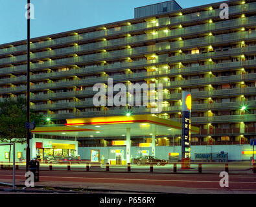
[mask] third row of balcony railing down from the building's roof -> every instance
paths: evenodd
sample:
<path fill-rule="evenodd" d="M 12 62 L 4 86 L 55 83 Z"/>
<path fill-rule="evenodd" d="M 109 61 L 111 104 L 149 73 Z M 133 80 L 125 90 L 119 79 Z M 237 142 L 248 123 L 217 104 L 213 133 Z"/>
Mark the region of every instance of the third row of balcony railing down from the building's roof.
<path fill-rule="evenodd" d="M 255 17 L 256 19 L 256 17 Z M 256 37 L 256 32 L 253 30 L 252 32 L 237 32 L 234 34 L 223 34 L 219 36 L 208 36 L 205 38 L 198 38 L 198 39 L 191 39 L 191 40 L 185 40 L 185 41 L 176 41 L 174 43 L 164 43 L 165 46 L 161 45 L 151 45 L 151 46 L 145 46 L 145 47 L 139 47 L 139 48 L 134 48 L 134 49 L 125 49 L 125 50 L 117 50 L 113 52 L 103 52 L 100 54 L 90 54 L 90 55 L 84 55 L 84 56 L 78 56 L 78 57 L 73 57 L 73 58 L 64 58 L 64 59 L 58 59 L 54 61 L 45 61 L 43 63 L 33 63 L 31 64 L 30 68 L 31 71 L 33 70 L 39 70 L 39 69 L 45 69 L 49 67 L 60 67 L 61 65 L 76 65 L 78 63 L 84 63 L 84 62 L 94 62 L 94 61 L 100 61 L 100 60 L 106 60 L 108 59 L 113 60 L 113 58 L 127 58 L 127 57 L 132 57 L 134 55 L 138 54 L 150 54 L 152 52 L 157 52 L 157 51 L 163 51 L 167 50 L 169 51 L 170 49 L 172 50 L 178 50 L 182 49 L 183 47 L 200 47 L 200 45 L 209 45 L 211 43 L 218 43 L 218 42 L 223 42 L 223 41 L 238 41 L 239 39 L 246 40 L 248 38 L 255 38 Z M 239 49 L 240 52 L 244 52 L 246 47 Z M 250 48 L 250 47 L 249 47 Z M 239 50 L 230 50 L 234 52 L 239 52 Z M 251 50 L 251 49 L 249 49 Z M 198 58 L 213 58 L 215 52 L 209 52 L 209 54 L 194 54 L 194 55 L 183 55 L 183 56 L 174 56 L 170 58 L 165 58 L 165 61 L 170 61 L 173 63 L 176 63 L 177 61 L 187 61 L 191 60 L 197 60 Z M 218 55 L 226 56 L 230 55 L 230 52 L 216 52 Z M 160 58 L 161 56 L 159 56 Z M 49 58 L 49 56 L 46 56 L 46 58 Z M 163 61 L 163 60 L 162 60 Z M 13 63 L 10 61 L 10 63 Z M 2 68 L 0 70 L 0 73 L 14 73 L 14 72 L 21 72 L 25 71 L 24 65 L 19 65 L 17 67 L 7 67 L 7 68 Z"/>

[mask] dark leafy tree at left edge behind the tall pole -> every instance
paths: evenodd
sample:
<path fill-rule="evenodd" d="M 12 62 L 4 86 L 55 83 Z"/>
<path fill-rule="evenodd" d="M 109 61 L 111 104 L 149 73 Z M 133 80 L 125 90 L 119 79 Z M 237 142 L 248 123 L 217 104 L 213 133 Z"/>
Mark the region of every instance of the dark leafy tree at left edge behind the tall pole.
<path fill-rule="evenodd" d="M 25 98 L 17 98 L 16 100 L 9 98 L 0 102 L 0 140 L 1 142 L 26 142 L 27 129 L 27 100 Z M 43 124 L 41 114 L 36 114 L 30 110 L 30 122 L 36 125 Z M 11 150 L 11 146 L 10 146 Z M 10 162 L 10 151 L 9 151 Z"/>

